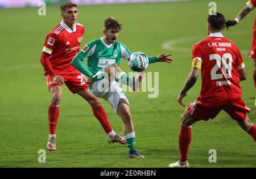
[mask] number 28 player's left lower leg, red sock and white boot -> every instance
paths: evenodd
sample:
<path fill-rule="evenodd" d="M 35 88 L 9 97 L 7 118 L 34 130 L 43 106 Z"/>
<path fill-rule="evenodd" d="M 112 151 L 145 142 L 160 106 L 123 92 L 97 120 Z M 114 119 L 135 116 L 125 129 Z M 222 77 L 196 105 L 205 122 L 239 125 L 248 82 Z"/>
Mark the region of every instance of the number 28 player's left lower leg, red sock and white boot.
<path fill-rule="evenodd" d="M 192 118 L 187 109 L 180 116 L 180 134 L 179 134 L 179 150 L 180 159 L 175 163 L 169 165 L 170 168 L 188 168 L 188 149 L 191 142 L 191 125 L 195 123 L 196 120 Z"/>

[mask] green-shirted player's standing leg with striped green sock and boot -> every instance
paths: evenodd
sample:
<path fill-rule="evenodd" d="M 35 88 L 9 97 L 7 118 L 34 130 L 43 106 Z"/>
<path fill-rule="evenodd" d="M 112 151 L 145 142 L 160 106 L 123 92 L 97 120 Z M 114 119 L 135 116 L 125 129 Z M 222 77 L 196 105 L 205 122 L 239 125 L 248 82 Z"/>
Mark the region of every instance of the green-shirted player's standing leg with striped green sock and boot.
<path fill-rule="evenodd" d="M 129 158 L 144 158 L 143 155 L 139 154 L 135 150 L 135 131 L 133 126 L 133 120 L 131 118 L 130 107 L 124 99 L 119 100 L 117 106 L 117 114 L 123 120 L 123 133 L 125 134 L 127 144 L 127 157 Z"/>

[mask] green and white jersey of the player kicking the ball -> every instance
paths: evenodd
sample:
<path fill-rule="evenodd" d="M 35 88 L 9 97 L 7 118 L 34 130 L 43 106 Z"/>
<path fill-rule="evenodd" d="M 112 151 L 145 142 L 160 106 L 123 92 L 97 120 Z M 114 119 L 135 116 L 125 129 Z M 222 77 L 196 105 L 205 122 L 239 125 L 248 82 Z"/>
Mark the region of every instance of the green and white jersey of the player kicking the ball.
<path fill-rule="evenodd" d="M 101 69 L 116 63 L 118 66 L 121 57 L 129 60 L 132 53 L 119 41 L 113 44 L 106 44 L 102 37 L 88 42 L 85 47 L 76 55 L 76 58 L 87 60 L 87 69 L 95 75 Z"/>

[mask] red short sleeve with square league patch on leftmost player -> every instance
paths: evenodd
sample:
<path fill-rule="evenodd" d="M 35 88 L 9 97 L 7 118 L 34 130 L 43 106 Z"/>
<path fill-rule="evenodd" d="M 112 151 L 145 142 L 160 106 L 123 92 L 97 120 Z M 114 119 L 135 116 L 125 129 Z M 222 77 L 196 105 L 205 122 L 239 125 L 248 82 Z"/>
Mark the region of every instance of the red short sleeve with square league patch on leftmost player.
<path fill-rule="evenodd" d="M 46 37 L 46 41 L 44 42 L 43 52 L 52 54 L 58 44 L 58 41 L 59 37 L 56 35 L 56 33 L 49 33 Z"/>

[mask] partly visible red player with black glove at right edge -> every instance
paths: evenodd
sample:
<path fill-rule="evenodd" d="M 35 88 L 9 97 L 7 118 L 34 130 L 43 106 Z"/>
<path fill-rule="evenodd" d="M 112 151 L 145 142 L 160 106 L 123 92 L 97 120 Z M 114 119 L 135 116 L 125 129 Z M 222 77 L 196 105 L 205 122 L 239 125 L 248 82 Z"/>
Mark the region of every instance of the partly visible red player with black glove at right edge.
<path fill-rule="evenodd" d="M 245 16 L 256 7 L 256 0 L 250 0 L 246 3 L 246 7 L 243 8 L 239 14 L 237 15 L 236 19 L 228 20 L 226 22 L 226 28 L 228 29 L 232 25 L 236 25 L 240 20 L 245 18 Z M 254 20 L 254 28 L 253 28 L 253 40 L 251 41 L 251 50 L 248 54 L 249 58 L 253 58 L 254 61 L 254 70 L 253 70 L 253 79 L 256 88 L 256 18 Z M 255 107 L 256 107 L 256 97 L 255 97 Z"/>

